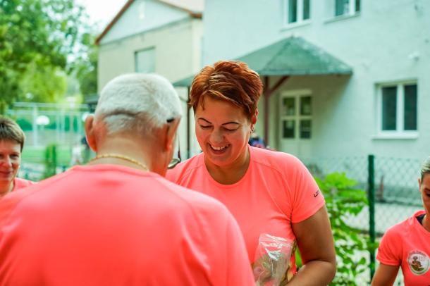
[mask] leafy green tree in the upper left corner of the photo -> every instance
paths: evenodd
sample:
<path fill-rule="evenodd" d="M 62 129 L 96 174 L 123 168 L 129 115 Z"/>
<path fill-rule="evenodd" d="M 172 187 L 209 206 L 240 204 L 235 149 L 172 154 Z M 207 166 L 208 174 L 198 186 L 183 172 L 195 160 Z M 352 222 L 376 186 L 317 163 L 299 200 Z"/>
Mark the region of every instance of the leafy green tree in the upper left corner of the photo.
<path fill-rule="evenodd" d="M 58 99 L 84 23 L 74 0 L 0 0 L 0 112 L 17 100 Z"/>

